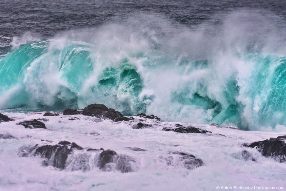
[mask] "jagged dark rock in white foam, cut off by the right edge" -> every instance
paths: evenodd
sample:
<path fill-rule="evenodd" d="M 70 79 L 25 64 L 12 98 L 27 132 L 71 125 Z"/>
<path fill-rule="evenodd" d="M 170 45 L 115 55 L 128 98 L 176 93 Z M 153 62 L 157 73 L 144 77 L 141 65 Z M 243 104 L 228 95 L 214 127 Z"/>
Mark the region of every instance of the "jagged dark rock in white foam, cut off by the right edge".
<path fill-rule="evenodd" d="M 280 163 L 286 161 L 286 144 L 279 138 L 270 138 L 264 141 L 257 141 L 251 144 L 243 144 L 244 147 L 257 148 L 262 156 L 272 157 Z"/>

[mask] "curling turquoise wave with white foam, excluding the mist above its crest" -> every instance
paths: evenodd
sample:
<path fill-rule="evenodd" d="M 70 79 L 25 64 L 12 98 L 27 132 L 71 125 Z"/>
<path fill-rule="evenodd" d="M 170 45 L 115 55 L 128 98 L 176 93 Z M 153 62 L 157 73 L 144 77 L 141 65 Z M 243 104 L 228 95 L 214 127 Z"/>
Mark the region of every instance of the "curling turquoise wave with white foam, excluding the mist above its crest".
<path fill-rule="evenodd" d="M 170 121 L 246 130 L 286 125 L 286 57 L 243 53 L 225 60 L 32 42 L 0 60 L 0 109 L 62 111 L 101 103 Z"/>

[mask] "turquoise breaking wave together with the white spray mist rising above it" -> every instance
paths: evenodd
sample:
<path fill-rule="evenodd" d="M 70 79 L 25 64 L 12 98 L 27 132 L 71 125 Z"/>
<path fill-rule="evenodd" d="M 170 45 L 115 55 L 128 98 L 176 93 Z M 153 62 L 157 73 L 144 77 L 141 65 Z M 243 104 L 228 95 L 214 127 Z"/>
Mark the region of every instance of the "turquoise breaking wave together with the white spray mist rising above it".
<path fill-rule="evenodd" d="M 207 31 L 152 17 L 139 29 L 136 22 L 110 24 L 46 41 L 13 40 L 15 50 L 0 61 L 0 109 L 61 111 L 101 103 L 169 121 L 248 130 L 286 125 L 286 57 L 264 51 L 275 44 L 269 46 L 268 34 L 245 32 L 262 17 L 251 14 L 233 13 Z"/>

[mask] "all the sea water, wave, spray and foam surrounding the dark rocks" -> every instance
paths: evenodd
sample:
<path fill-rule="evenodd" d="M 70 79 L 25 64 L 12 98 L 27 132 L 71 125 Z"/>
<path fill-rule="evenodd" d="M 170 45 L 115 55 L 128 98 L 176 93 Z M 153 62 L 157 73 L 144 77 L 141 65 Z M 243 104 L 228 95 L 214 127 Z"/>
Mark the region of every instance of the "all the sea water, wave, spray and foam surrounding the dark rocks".
<path fill-rule="evenodd" d="M 241 158 L 244 143 L 286 132 L 285 8 L 286 1 L 275 0 L 2 1 L 0 113 L 16 121 L 1 123 L 0 133 L 16 139 L 0 139 L 0 188 L 285 186 L 285 164 L 256 149 L 246 150 L 257 162 Z M 132 128 L 138 121 L 83 115 L 70 121 L 62 115 L 93 103 L 162 121 L 142 119 L 153 128 L 138 130 Z M 46 111 L 60 112 L 44 117 L 46 130 L 17 125 Z M 177 123 L 213 135 L 162 131 Z M 44 167 L 41 158 L 18 156 L 35 144 L 63 140 L 128 155 L 133 172 L 99 170 L 97 152 L 75 153 L 63 171 Z M 170 151 L 191 153 L 204 166 L 169 165 Z M 87 172 L 72 170 L 80 154 L 88 158 Z"/>

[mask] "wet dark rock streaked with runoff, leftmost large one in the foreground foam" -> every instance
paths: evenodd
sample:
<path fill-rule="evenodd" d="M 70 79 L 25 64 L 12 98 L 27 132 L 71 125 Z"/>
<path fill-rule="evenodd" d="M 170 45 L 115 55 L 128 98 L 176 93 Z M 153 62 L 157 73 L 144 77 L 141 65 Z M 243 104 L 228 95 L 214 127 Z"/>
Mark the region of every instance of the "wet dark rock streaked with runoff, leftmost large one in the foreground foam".
<path fill-rule="evenodd" d="M 47 166 L 51 165 L 63 170 L 66 165 L 66 159 L 71 152 L 72 150 L 68 149 L 66 145 L 44 145 L 42 147 L 38 147 L 34 155 L 40 155 L 41 158 L 45 158 L 45 164 Z"/>

